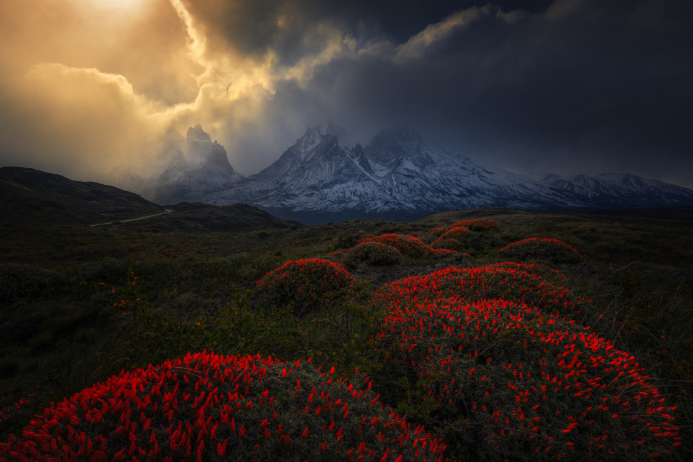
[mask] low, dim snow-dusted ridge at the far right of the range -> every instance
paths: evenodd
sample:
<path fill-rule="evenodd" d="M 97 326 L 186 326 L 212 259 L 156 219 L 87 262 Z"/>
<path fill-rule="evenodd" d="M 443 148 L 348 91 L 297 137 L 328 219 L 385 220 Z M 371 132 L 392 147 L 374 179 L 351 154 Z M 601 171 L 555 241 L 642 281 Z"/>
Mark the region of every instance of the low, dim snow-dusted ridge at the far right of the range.
<path fill-rule="evenodd" d="M 628 173 L 602 173 L 590 177 L 536 172 L 527 177 L 570 191 L 590 206 L 662 207 L 693 203 L 693 190 Z"/>

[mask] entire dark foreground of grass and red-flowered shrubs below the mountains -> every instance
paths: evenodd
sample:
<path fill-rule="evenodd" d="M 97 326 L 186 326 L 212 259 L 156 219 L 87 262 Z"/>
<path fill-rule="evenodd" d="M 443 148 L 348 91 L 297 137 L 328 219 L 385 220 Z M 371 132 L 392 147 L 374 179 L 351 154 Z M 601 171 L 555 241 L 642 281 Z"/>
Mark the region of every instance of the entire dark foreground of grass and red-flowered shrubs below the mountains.
<path fill-rule="evenodd" d="M 48 454 L 39 429 L 62 418 L 64 441 L 89 424 L 91 447 L 70 440 L 83 460 L 688 460 L 690 225 L 512 211 L 245 233 L 6 224 L 2 441 Z M 203 350 L 222 356 L 186 356 Z M 232 397 L 222 372 L 266 385 Z M 153 386 L 179 409 L 96 404 L 135 376 L 132 400 L 152 405 Z M 51 407 L 70 396 L 81 414 Z M 239 405 L 245 443 L 229 431 Z"/>

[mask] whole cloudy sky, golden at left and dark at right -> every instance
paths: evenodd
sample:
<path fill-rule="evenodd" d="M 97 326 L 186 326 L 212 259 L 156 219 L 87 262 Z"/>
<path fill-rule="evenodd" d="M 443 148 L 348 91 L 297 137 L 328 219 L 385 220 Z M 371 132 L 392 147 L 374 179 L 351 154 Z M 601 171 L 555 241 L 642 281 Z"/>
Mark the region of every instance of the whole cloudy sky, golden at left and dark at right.
<path fill-rule="evenodd" d="M 331 122 L 693 188 L 691 24 L 690 0 L 3 0 L 0 166 L 114 184 L 200 123 L 251 175 Z"/>

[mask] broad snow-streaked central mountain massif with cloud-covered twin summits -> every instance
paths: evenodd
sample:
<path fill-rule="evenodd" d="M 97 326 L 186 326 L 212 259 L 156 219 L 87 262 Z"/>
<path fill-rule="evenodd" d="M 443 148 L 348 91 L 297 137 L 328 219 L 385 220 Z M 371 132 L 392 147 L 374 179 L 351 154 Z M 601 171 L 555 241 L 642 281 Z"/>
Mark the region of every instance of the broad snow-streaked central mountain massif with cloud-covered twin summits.
<path fill-rule="evenodd" d="M 271 166 L 202 198 L 247 202 L 278 216 L 425 215 L 454 208 L 582 206 L 572 193 L 425 143 L 395 127 L 362 148 L 309 127 Z"/>

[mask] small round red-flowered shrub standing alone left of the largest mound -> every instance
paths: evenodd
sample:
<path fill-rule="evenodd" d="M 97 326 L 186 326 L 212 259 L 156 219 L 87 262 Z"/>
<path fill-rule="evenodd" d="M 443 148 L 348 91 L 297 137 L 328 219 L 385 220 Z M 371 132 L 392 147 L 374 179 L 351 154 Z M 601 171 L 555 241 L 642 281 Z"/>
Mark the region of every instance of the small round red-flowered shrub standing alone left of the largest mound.
<path fill-rule="evenodd" d="M 256 283 L 260 299 L 272 305 L 291 305 L 301 316 L 322 308 L 354 279 L 340 263 L 322 258 L 289 260 Z"/>

